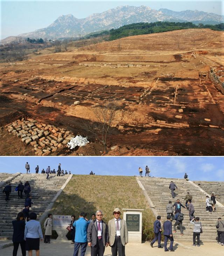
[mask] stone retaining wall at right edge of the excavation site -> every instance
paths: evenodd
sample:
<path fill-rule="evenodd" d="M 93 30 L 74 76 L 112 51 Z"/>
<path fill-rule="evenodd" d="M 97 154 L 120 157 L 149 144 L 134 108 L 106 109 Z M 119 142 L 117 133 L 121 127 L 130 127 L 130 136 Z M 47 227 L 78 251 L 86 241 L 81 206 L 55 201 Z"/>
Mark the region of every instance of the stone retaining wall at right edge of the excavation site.
<path fill-rule="evenodd" d="M 211 67 L 209 78 L 215 87 L 224 94 L 224 67 Z"/>

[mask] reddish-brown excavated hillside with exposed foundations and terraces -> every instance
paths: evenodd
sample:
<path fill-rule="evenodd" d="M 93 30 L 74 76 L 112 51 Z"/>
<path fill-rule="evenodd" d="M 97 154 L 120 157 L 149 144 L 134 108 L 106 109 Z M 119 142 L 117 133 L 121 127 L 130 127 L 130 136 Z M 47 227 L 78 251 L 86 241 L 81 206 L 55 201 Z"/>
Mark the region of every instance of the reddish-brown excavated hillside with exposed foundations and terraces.
<path fill-rule="evenodd" d="M 223 155 L 223 42 L 185 29 L 0 63 L 0 155 Z M 90 128 L 110 102 L 105 146 Z"/>

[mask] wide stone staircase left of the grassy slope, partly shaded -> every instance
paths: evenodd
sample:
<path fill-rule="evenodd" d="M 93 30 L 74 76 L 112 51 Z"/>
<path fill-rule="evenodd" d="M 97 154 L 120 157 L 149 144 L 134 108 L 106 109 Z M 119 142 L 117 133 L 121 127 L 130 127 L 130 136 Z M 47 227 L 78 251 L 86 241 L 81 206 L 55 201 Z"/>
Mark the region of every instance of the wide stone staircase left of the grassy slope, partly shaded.
<path fill-rule="evenodd" d="M 12 193 L 9 196 L 9 202 L 5 201 L 5 194 L 2 193 L 4 187 L 2 187 L 0 189 L 0 240 L 12 238 L 12 220 L 15 220 L 17 214 L 24 208 L 25 194 L 23 193 L 23 198 L 21 199 L 18 198 L 18 193 L 15 191 L 20 181 L 23 184 L 26 181 L 30 183 L 30 194 L 32 195 L 32 202 L 34 202 L 30 212 L 35 212 L 38 219 L 68 177 L 69 175 L 57 177 L 56 174 L 50 174 L 50 180 L 47 180 L 46 174 L 21 174 L 10 182 L 12 184 Z"/>

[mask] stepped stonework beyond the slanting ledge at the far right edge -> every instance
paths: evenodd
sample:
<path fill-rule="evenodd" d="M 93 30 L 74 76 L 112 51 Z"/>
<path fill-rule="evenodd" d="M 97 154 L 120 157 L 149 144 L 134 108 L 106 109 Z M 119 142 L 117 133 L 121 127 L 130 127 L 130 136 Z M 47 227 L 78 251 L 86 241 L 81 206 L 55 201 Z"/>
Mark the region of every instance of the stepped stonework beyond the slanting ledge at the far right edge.
<path fill-rule="evenodd" d="M 214 193 L 216 200 L 224 204 L 224 182 L 219 181 L 194 181 L 196 185 L 202 188 L 206 193 Z M 223 213 L 224 214 L 224 213 Z"/>

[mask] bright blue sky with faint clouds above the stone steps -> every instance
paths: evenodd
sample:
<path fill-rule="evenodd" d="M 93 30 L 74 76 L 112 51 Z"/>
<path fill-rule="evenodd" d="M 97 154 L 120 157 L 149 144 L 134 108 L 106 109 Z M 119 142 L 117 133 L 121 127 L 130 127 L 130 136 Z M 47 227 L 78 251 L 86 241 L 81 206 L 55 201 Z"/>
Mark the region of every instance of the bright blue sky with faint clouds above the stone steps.
<path fill-rule="evenodd" d="M 224 181 L 224 157 L 0 157 L 0 172 L 26 173 L 25 163 L 29 162 L 31 173 L 38 164 L 40 170 L 56 169 L 61 163 L 63 170 L 72 174 L 96 175 L 139 175 L 138 168 L 148 165 L 151 176 L 183 178 L 186 172 L 190 180 Z"/>

